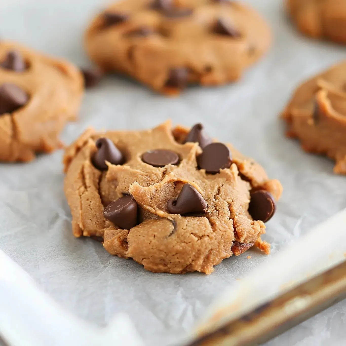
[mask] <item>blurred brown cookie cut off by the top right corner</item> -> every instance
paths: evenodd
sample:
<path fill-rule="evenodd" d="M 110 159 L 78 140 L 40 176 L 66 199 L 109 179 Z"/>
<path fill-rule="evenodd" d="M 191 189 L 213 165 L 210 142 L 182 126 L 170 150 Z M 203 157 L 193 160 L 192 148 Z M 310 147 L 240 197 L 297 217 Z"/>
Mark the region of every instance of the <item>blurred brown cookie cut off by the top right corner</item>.
<path fill-rule="evenodd" d="M 290 16 L 305 35 L 346 43 L 344 0 L 287 0 Z"/>

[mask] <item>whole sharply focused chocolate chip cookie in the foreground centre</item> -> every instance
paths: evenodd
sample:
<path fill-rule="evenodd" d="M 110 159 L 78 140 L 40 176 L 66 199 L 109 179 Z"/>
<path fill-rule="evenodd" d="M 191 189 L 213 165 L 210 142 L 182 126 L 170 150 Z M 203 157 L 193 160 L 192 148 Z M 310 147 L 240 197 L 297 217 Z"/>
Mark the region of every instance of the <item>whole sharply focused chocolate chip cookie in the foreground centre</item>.
<path fill-rule="evenodd" d="M 279 181 L 200 124 L 95 132 L 66 149 L 64 191 L 74 236 L 152 272 L 210 274 L 261 240 Z M 254 220 L 255 219 L 255 220 Z"/>

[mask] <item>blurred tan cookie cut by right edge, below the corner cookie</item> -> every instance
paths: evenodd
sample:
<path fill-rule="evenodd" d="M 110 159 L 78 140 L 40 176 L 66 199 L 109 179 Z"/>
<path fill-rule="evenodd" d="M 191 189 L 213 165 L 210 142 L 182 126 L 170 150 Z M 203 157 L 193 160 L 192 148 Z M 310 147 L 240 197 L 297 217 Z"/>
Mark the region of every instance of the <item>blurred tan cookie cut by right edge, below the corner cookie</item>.
<path fill-rule="evenodd" d="M 306 81 L 282 113 L 288 137 L 302 148 L 336 161 L 334 172 L 346 174 L 346 62 Z"/>

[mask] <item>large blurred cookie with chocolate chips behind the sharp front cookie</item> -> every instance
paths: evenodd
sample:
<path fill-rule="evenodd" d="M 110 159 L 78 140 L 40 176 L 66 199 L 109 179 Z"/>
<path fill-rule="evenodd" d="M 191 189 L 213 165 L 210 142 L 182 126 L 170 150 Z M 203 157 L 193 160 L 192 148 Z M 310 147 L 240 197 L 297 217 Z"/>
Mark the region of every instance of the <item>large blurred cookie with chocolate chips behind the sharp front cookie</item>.
<path fill-rule="evenodd" d="M 124 0 L 86 31 L 91 60 L 158 92 L 188 83 L 236 81 L 269 48 L 271 33 L 251 8 L 228 0 Z"/>

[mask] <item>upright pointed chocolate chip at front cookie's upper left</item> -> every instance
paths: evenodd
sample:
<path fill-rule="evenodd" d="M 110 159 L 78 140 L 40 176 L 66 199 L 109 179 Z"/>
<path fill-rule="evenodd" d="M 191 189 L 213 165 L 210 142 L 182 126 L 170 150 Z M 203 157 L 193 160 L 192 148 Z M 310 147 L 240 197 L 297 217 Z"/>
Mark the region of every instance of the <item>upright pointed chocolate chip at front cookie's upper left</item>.
<path fill-rule="evenodd" d="M 99 138 L 95 145 L 98 150 L 92 157 L 92 163 L 98 170 L 108 170 L 106 161 L 113 165 L 120 165 L 124 162 L 124 156 L 109 138 Z"/>

